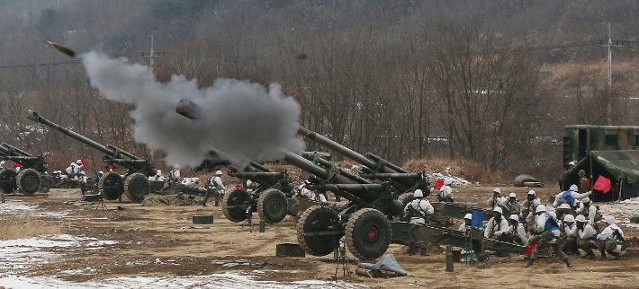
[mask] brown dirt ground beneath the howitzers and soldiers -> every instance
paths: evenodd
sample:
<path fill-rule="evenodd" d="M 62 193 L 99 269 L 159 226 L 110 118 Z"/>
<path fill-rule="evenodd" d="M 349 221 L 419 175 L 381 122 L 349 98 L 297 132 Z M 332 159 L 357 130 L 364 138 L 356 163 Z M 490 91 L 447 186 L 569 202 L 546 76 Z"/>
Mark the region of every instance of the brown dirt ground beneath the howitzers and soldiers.
<path fill-rule="evenodd" d="M 526 196 L 528 188 L 505 186 L 454 188 L 455 202 L 485 207 L 491 190 L 500 187 L 502 192 L 516 192 Z M 545 205 L 558 188 L 535 188 Z M 97 240 L 118 241 L 102 250 L 71 248 L 63 250 L 63 258 L 26 268 L 31 276 L 57 276 L 67 281 L 99 282 L 104 278 L 119 276 L 202 276 L 224 272 L 251 272 L 248 266 L 223 267 L 217 260 L 246 259 L 250 263 L 271 263 L 283 267 L 267 266 L 260 269 L 259 280 L 276 282 L 297 280 L 336 280 L 337 262 L 331 256 L 306 258 L 276 258 L 275 246 L 280 243 L 297 243 L 292 217 L 283 223 L 266 226 L 266 232 L 253 232 L 241 228 L 224 218 L 220 206 L 145 207 L 139 204 L 105 202 L 107 210 L 95 210 L 95 206 L 76 206 L 65 199 L 49 199 L 46 195 L 34 197 L 8 196 L 9 200 L 21 200 L 23 204 L 38 205 L 40 213 L 64 212 L 63 215 L 40 214 L 39 219 L 55 223 L 62 232 L 74 236 L 92 237 Z M 428 197 L 435 199 L 434 196 Z M 124 209 L 117 210 L 117 206 Z M 617 219 L 627 220 L 639 215 L 636 204 L 602 205 L 615 207 Z M 622 207 L 624 209 L 619 209 Z M 625 213 L 619 213 L 625 212 Z M 2 214 L 2 212 L 0 212 Z M 616 214 L 616 213 L 613 213 Z M 193 224 L 193 215 L 214 215 L 212 224 Z M 606 215 L 606 214 L 604 214 Z M 257 215 L 254 215 L 257 218 Z M 626 239 L 636 244 L 636 227 L 620 226 Z M 456 226 L 454 226 L 456 228 Z M 631 246 L 621 260 L 598 261 L 571 256 L 573 268 L 567 268 L 558 258 L 540 258 L 535 267 L 524 268 L 523 256 L 491 258 L 491 267 L 478 268 L 465 263 L 455 263 L 455 272 L 446 272 L 446 256 L 443 248 L 431 248 L 430 257 L 413 257 L 406 248 L 391 245 L 388 253 L 394 254 L 401 267 L 410 272 L 406 277 L 367 278 L 338 274 L 340 284 L 363 285 L 370 288 L 413 287 L 507 287 L 507 288 L 635 288 L 639 277 L 639 254 Z M 51 249 L 54 250 L 54 249 Z M 59 249 L 55 249 L 59 250 Z M 599 256 L 599 253 L 598 253 Z M 82 272 L 91 267 L 91 274 Z M 353 265 L 355 267 L 355 265 Z M 1 270 L 0 270 L 1 271 Z M 0 279 L 0 287 L 2 286 Z"/>

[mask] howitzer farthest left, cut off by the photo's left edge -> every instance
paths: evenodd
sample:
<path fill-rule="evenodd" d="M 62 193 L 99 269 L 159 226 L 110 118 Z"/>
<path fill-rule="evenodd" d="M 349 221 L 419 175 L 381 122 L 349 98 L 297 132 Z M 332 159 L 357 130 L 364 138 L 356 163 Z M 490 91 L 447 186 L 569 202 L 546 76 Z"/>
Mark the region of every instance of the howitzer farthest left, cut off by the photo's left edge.
<path fill-rule="evenodd" d="M 12 161 L 22 165 L 20 172 L 14 169 L 2 169 L 0 171 L 0 188 L 4 192 L 11 193 L 16 189 L 24 195 L 31 196 L 40 188 L 40 174 L 47 171 L 48 165 L 44 158 L 33 156 L 14 147 L 13 145 L 0 145 L 0 160 Z"/>

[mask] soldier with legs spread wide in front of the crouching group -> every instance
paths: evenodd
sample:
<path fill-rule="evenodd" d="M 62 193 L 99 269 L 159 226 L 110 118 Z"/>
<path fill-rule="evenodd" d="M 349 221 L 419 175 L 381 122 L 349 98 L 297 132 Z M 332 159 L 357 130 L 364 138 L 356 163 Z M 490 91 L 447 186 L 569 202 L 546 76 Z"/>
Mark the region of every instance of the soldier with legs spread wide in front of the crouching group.
<path fill-rule="evenodd" d="M 554 250 L 554 254 L 559 259 L 566 263 L 567 267 L 572 267 L 571 261 L 566 254 L 563 254 L 561 249 L 561 232 L 559 231 L 559 225 L 554 215 L 550 215 L 545 211 L 544 205 L 537 206 L 536 209 L 537 220 L 535 223 L 536 236 L 530 239 L 531 243 L 537 242 L 537 245 L 528 259 L 527 268 L 533 267 L 533 263 L 539 254 L 539 250 L 544 250 L 547 246 L 551 246 Z"/>

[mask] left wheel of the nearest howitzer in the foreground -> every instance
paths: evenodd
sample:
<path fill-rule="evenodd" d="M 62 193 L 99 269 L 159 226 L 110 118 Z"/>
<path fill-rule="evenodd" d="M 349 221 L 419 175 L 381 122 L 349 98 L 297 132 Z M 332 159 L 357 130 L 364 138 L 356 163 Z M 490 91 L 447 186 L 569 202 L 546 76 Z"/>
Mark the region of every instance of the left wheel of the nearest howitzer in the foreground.
<path fill-rule="evenodd" d="M 297 241 L 302 250 L 313 256 L 326 256 L 333 252 L 338 245 L 337 240 L 342 238 L 338 235 L 316 235 L 306 236 L 309 232 L 329 232 L 329 225 L 338 223 L 338 212 L 326 206 L 311 206 L 300 216 L 295 226 L 297 230 Z"/>

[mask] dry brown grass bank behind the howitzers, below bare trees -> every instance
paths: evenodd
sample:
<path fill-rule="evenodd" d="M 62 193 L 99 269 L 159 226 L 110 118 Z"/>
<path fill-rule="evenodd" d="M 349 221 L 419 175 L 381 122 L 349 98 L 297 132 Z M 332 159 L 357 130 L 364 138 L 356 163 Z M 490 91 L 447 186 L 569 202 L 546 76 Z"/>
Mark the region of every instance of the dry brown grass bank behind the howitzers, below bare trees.
<path fill-rule="evenodd" d="M 425 171 L 426 173 L 439 172 L 444 175 L 450 173 L 454 177 L 464 180 L 479 181 L 481 183 L 503 183 L 504 175 L 501 171 L 487 171 L 482 164 L 467 159 L 450 160 L 446 158 L 431 158 L 410 160 L 405 162 L 403 168 L 408 171 Z M 450 168 L 450 170 L 446 170 Z"/>

